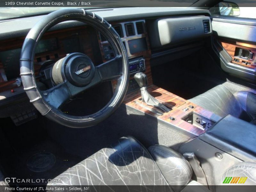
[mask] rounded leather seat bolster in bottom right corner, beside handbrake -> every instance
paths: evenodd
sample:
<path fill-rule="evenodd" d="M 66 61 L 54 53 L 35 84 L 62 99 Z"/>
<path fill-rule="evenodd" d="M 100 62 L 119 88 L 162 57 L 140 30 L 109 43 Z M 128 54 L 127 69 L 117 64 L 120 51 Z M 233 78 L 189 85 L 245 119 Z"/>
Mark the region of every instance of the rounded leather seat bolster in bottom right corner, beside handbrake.
<path fill-rule="evenodd" d="M 227 185 L 223 183 L 226 177 L 247 177 L 244 184 L 239 184 L 239 180 L 232 184 L 231 180 L 229 185 L 256 185 L 256 163 L 242 162 L 231 166 L 222 175 L 219 185 Z"/>

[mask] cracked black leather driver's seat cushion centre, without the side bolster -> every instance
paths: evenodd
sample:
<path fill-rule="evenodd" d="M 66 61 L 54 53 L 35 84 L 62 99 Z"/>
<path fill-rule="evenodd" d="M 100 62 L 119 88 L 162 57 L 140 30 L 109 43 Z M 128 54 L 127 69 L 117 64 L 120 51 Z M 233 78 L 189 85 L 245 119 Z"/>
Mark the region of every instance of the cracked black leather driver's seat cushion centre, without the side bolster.
<path fill-rule="evenodd" d="M 168 185 L 148 151 L 134 138 L 123 137 L 103 148 L 48 185 Z"/>

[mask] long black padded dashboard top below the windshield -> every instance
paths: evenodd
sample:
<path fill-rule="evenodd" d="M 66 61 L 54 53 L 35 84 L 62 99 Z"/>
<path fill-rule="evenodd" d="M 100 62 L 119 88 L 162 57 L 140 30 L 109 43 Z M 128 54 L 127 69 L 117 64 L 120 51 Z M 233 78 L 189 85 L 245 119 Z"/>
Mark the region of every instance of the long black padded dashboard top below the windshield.
<path fill-rule="evenodd" d="M 127 7 L 127 8 L 105 8 L 90 10 L 95 12 L 100 17 L 103 17 L 107 21 L 118 20 L 132 20 L 139 18 L 156 18 L 164 16 L 177 16 L 177 15 L 206 15 L 210 16 L 208 10 L 195 9 L 195 8 L 170 8 L 170 7 Z M 10 39 L 20 36 L 26 36 L 28 31 L 36 24 L 37 21 L 42 19 L 44 15 L 17 18 L 10 20 L 0 21 L 0 40 Z M 78 21 L 66 21 L 62 22 L 51 30 L 58 30 L 61 28 L 71 28 L 84 25 L 84 23 Z"/>

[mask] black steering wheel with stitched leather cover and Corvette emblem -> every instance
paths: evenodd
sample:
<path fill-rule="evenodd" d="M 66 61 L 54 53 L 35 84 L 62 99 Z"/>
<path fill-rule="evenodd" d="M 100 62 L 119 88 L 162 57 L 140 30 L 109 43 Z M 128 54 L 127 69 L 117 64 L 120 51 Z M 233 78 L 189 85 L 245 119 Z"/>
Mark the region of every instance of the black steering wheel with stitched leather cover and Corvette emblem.
<path fill-rule="evenodd" d="M 36 45 L 52 26 L 68 20 L 82 21 L 103 34 L 116 57 L 98 66 L 83 53 L 71 53 L 58 60 L 51 69 L 55 86 L 41 91 L 34 73 Z M 28 33 L 21 50 L 20 76 L 30 102 L 47 118 L 73 128 L 93 126 L 110 116 L 122 103 L 129 82 L 129 62 L 124 45 L 111 25 L 100 16 L 84 9 L 63 9 L 40 20 Z M 117 80 L 116 90 L 108 104 L 88 116 L 71 116 L 60 106 L 73 96 L 103 81 Z"/>

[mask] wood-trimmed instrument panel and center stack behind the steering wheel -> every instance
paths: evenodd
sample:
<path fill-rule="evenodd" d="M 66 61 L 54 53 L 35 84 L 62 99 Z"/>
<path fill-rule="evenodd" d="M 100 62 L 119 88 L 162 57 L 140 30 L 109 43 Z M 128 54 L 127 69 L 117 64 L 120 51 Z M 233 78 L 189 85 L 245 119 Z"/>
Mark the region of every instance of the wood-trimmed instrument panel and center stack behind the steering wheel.
<path fill-rule="evenodd" d="M 112 25 L 121 37 L 127 51 L 131 75 L 136 72 L 145 72 L 149 77 L 149 84 L 151 84 L 149 64 L 151 51 L 145 20 L 114 22 Z M 15 89 L 19 86 L 16 79 L 20 77 L 19 59 L 23 41 L 24 38 L 7 40 L 3 44 L 12 46 L 0 49 L 0 92 L 7 91 L 5 97 L 14 95 Z M 47 65 L 73 52 L 82 52 L 88 55 L 96 66 L 115 57 L 107 39 L 90 26 L 48 32 L 36 47 L 34 57 L 36 77 L 39 79 L 42 76 L 40 72 Z M 135 85 L 135 82 L 132 81 L 131 78 L 130 83 Z M 115 81 L 112 82 L 112 86 L 114 90 Z M 137 88 L 137 86 L 132 86 L 129 91 Z"/>

